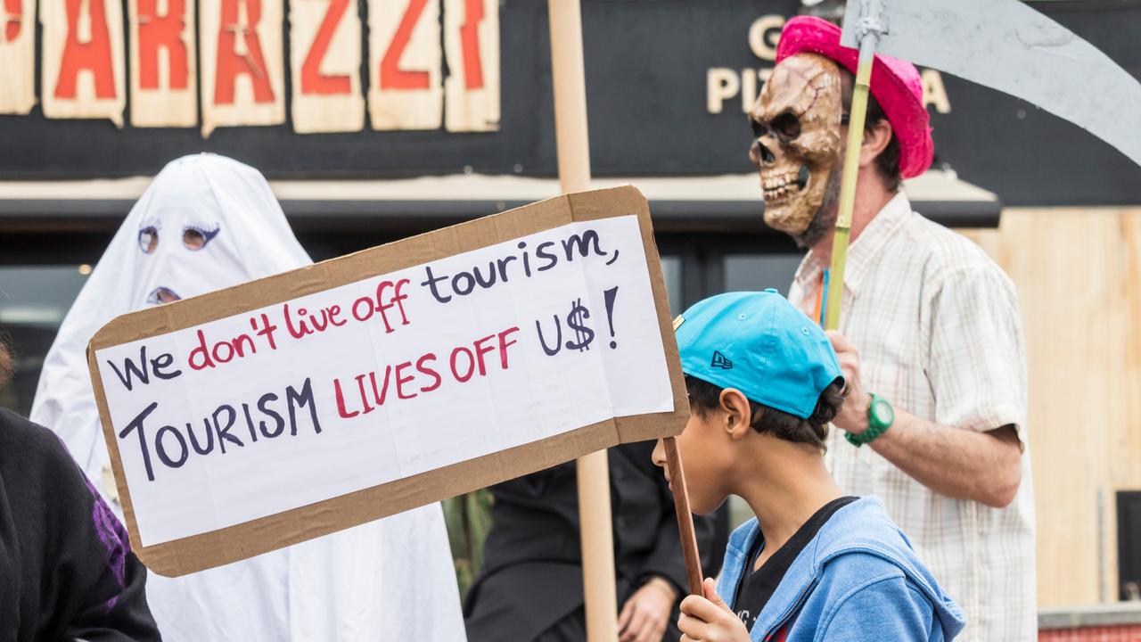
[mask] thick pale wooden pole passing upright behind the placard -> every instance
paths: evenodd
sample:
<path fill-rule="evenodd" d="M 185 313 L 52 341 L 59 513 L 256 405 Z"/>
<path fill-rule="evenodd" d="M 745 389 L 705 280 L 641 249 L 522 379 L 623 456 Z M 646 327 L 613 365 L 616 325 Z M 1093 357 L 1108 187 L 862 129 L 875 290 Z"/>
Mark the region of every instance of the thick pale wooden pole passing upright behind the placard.
<path fill-rule="evenodd" d="M 551 77 L 555 87 L 559 186 L 563 192 L 581 192 L 590 185 L 582 10 L 578 0 L 548 0 L 547 6 L 551 25 Z M 590 642 L 616 642 L 618 599 L 614 585 L 610 470 L 606 451 L 581 457 L 577 472 L 586 639 Z"/>

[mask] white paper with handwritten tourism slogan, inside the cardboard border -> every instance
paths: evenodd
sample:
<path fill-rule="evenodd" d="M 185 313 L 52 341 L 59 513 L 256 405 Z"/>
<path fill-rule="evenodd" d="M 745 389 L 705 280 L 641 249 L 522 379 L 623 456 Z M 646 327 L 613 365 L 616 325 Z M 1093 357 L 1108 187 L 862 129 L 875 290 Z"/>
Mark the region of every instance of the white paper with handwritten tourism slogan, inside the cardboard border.
<path fill-rule="evenodd" d="M 136 374 L 128 390 L 124 363 L 144 350 L 169 378 L 148 368 L 148 383 Z M 570 223 L 96 360 L 143 546 L 673 410 L 636 216 Z"/>

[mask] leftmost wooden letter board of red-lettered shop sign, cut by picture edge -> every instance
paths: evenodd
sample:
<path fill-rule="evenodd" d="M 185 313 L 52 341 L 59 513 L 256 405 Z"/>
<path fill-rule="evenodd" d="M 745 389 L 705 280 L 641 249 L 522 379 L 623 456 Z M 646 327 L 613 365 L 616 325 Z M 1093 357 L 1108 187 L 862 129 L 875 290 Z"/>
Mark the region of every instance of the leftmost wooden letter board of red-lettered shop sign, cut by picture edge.
<path fill-rule="evenodd" d="M 26 115 L 35 104 L 35 2 L 0 7 L 0 114 Z"/>

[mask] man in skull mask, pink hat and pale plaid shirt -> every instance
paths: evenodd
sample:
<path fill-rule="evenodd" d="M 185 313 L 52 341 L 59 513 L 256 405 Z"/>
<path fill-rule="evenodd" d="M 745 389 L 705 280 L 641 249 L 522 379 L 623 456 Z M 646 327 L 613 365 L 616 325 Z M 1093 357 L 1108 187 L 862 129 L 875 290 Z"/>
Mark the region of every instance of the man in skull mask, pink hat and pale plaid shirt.
<path fill-rule="evenodd" d="M 857 53 L 839 40 L 830 23 L 794 18 L 777 69 L 798 58 L 792 65 L 803 67 L 806 55 L 835 63 L 842 147 Z M 793 111 L 801 122 L 792 127 L 790 112 L 774 109 L 792 104 L 779 94 L 811 89 L 817 105 L 830 87 L 799 77 L 808 80 L 766 86 L 750 114 L 758 135 L 751 155 L 766 187 L 766 220 L 809 249 L 788 299 L 823 319 L 826 289 L 843 288 L 840 332 L 830 336 L 850 388 L 834 420 L 841 430 L 830 435 L 828 468 L 845 492 L 883 499 L 966 612 L 960 640 L 1033 641 L 1034 497 L 1014 288 L 977 246 L 912 211 L 901 182 L 926 170 L 933 143 L 917 71 L 885 56 L 876 56 L 872 74 L 847 274 L 830 283 L 840 163 L 801 225 L 790 224 L 790 206 L 806 207 L 790 185 L 811 185 L 779 178 L 791 175 L 780 166 L 804 153 L 794 135 L 809 123 L 807 112 Z"/>

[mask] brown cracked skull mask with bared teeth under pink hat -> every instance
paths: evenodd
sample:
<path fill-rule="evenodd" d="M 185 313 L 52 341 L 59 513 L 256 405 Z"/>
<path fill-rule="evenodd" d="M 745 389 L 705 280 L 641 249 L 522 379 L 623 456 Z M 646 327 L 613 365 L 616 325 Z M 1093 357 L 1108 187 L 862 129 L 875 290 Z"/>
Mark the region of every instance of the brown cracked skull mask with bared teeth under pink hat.
<path fill-rule="evenodd" d="M 748 113 L 748 158 L 761 170 L 764 223 L 800 234 L 824 202 L 840 158 L 841 78 L 836 64 L 798 54 L 772 70 Z"/>

